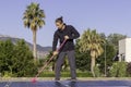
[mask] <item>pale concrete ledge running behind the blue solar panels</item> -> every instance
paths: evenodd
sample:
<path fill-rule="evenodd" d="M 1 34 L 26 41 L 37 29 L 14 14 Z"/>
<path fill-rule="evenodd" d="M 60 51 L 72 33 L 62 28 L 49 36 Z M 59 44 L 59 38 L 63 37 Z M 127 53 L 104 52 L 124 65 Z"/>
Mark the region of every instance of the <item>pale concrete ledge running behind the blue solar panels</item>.
<path fill-rule="evenodd" d="M 33 77 L 1 77 L 0 82 L 32 82 Z M 53 82 L 53 77 L 37 77 L 38 82 Z M 68 79 L 61 77 L 61 80 Z M 131 80 L 131 77 L 78 77 L 78 80 Z"/>

